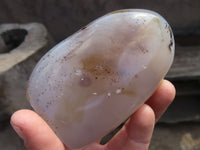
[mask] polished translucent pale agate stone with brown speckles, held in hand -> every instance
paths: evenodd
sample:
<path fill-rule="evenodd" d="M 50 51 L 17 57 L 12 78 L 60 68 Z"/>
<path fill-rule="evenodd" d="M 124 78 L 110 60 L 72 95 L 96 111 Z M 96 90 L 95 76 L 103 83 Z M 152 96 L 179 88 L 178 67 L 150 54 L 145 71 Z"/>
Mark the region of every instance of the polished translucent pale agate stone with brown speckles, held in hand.
<path fill-rule="evenodd" d="M 68 147 L 80 148 L 143 104 L 173 57 L 173 34 L 164 18 L 149 10 L 119 10 L 43 56 L 30 77 L 28 99 Z"/>

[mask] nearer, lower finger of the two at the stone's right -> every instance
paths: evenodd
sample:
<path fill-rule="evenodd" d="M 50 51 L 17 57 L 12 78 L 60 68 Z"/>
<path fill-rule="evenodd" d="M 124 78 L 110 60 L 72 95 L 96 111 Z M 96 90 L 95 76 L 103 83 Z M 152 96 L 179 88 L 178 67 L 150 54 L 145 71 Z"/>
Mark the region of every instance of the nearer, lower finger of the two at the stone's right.
<path fill-rule="evenodd" d="M 150 106 L 142 105 L 117 135 L 106 145 L 109 150 L 147 150 L 153 133 L 155 115 Z"/>

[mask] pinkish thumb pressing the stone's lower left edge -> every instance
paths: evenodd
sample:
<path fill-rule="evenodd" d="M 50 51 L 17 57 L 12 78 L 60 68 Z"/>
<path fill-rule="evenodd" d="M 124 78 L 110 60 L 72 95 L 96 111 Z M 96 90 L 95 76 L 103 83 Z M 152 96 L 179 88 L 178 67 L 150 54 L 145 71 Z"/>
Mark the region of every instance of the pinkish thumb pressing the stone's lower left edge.
<path fill-rule="evenodd" d="M 28 150 L 64 150 L 63 143 L 50 127 L 31 110 L 19 110 L 11 117 L 11 125 L 24 140 Z"/>

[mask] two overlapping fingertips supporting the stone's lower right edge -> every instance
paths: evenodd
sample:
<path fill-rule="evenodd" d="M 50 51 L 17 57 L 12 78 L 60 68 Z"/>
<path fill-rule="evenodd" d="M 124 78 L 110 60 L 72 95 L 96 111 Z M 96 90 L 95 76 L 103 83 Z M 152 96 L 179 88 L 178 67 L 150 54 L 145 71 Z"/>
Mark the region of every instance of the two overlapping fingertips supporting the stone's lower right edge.
<path fill-rule="evenodd" d="M 156 92 L 106 144 L 106 148 L 109 150 L 147 150 L 155 120 L 160 118 L 174 97 L 174 86 L 169 81 L 162 80 Z"/>

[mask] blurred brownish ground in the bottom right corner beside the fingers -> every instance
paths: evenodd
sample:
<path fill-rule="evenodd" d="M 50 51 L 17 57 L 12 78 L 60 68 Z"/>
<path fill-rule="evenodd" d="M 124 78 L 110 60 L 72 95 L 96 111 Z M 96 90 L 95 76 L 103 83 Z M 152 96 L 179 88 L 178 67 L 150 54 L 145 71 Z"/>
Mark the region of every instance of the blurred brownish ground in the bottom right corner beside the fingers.
<path fill-rule="evenodd" d="M 200 123 L 157 124 L 150 150 L 200 150 Z"/>

